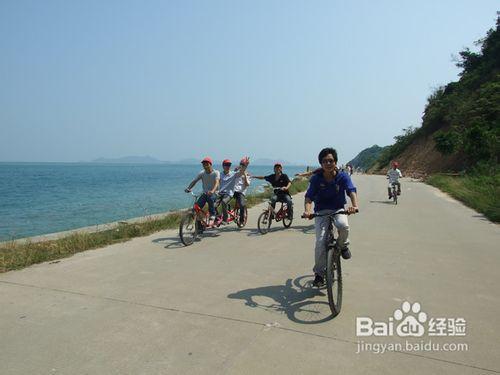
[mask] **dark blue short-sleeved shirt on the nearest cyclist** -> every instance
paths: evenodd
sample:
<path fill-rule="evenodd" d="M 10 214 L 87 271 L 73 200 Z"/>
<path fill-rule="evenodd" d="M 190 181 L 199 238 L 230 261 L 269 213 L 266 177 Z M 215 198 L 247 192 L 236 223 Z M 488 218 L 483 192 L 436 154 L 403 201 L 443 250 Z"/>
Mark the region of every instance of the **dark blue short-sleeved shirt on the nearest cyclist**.
<path fill-rule="evenodd" d="M 314 202 L 314 212 L 339 210 L 346 204 L 346 194 L 352 192 L 356 192 L 356 187 L 347 173 L 338 172 L 332 181 L 326 181 L 320 172 L 311 177 L 306 198 Z"/>

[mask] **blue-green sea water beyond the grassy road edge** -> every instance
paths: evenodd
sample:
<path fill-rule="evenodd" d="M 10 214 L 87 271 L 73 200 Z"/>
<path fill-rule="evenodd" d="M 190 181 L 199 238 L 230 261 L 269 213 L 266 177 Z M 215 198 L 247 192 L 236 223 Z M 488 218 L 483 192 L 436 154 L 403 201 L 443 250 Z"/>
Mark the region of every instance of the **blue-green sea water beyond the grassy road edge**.
<path fill-rule="evenodd" d="M 198 165 L 0 163 L 0 241 L 189 207 Z M 291 178 L 305 167 L 285 167 Z M 270 166 L 250 174 L 272 173 Z M 252 180 L 249 191 L 266 184 Z M 201 181 L 194 188 L 201 190 Z"/>

